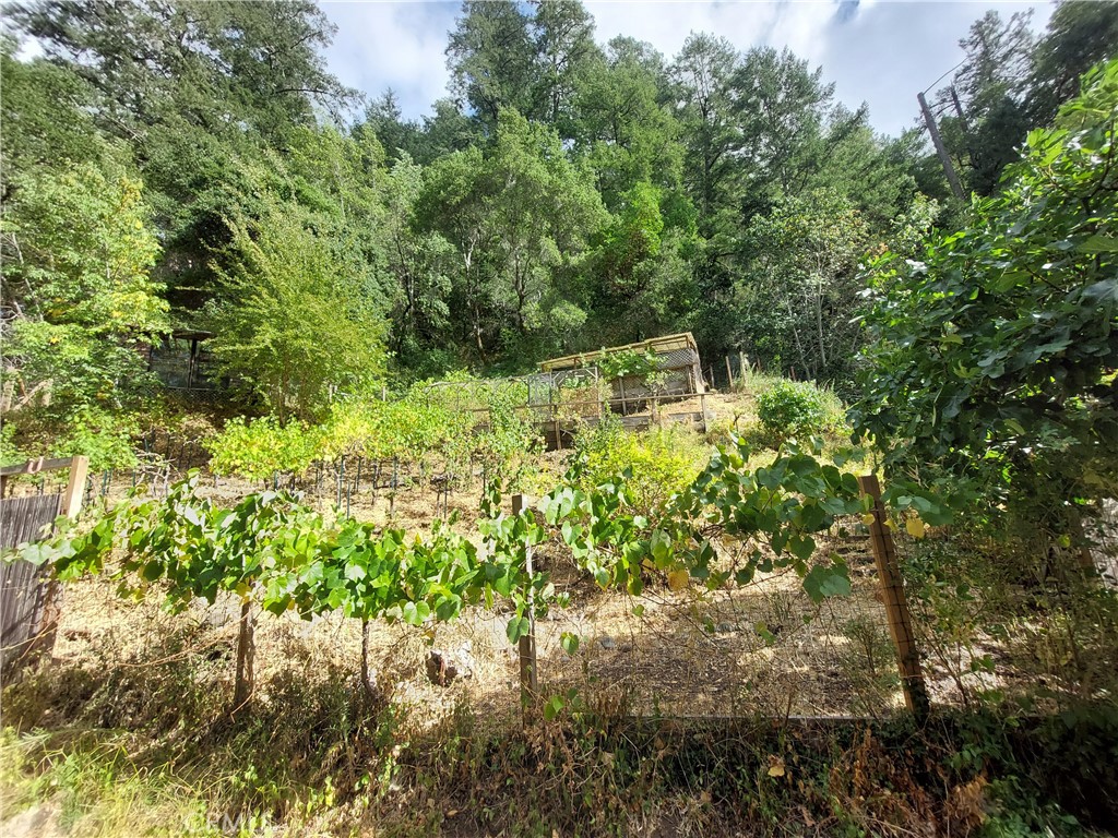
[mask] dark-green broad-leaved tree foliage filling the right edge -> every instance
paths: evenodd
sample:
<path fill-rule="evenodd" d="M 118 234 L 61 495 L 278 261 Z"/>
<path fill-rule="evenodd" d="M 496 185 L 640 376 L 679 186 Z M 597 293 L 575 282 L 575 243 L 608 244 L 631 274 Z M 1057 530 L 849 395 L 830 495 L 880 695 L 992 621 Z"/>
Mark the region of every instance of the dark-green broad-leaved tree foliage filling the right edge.
<path fill-rule="evenodd" d="M 1006 504 L 1049 539 L 1118 487 L 1118 63 L 1083 88 L 972 225 L 874 263 L 851 412 L 894 472 L 973 482 L 984 515 Z"/>

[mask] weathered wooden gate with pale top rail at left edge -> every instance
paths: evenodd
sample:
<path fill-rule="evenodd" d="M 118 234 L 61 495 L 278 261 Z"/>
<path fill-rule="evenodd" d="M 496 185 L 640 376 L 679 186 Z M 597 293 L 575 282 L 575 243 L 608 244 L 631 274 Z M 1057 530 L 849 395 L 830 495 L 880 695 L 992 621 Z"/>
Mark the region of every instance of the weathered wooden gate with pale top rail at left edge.
<path fill-rule="evenodd" d="M 85 457 L 32 460 L 0 469 L 0 485 L 19 474 L 68 468 L 66 489 L 54 495 L 0 497 L 0 549 L 36 541 L 49 533 L 58 515 L 75 517 L 82 508 L 88 460 Z M 2 489 L 0 489 L 2 495 Z M 0 680 L 54 647 L 61 589 L 49 568 L 22 559 L 0 563 Z"/>

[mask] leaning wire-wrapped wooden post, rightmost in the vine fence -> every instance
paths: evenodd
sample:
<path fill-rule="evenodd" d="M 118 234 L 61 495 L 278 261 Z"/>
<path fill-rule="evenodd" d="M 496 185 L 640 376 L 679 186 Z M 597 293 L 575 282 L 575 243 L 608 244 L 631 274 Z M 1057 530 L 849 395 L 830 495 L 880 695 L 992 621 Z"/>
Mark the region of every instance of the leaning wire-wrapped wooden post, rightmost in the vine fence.
<path fill-rule="evenodd" d="M 897 649 L 897 667 L 901 675 L 901 687 L 904 689 L 904 704 L 918 720 L 923 721 L 930 712 L 928 689 L 920 669 L 920 650 L 916 645 L 912 617 L 904 597 L 904 580 L 901 578 L 900 564 L 897 561 L 897 544 L 885 525 L 888 518 L 884 504 L 881 503 L 881 485 L 872 474 L 859 477 L 858 485 L 863 496 L 873 499 L 870 541 L 873 545 L 873 559 L 878 565 L 878 578 L 881 580 L 889 634 L 892 635 L 893 646 Z"/>

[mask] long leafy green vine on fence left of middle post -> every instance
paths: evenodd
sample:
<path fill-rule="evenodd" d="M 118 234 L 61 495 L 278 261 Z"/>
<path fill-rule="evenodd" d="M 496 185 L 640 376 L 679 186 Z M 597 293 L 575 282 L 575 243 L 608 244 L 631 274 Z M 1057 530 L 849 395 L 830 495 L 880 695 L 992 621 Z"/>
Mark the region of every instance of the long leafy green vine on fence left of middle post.
<path fill-rule="evenodd" d="M 553 593 L 546 577 L 523 573 L 522 547 L 510 550 L 522 544 L 523 515 L 492 522 L 493 547 L 483 561 L 467 539 L 447 528 L 436 526 L 424 539 L 402 530 L 377 532 L 352 518 L 331 525 L 296 498 L 273 492 L 248 495 L 226 510 L 198 497 L 197 482 L 195 474 L 164 499 L 122 503 L 87 532 L 64 532 L 25 546 L 21 555 L 50 562 L 67 580 L 105 572 L 106 558 L 120 549 L 123 559 L 111 574 L 121 593 L 142 596 L 154 588 L 173 610 L 196 598 L 212 603 L 225 591 L 275 615 L 292 610 L 311 619 L 340 610 L 419 626 L 454 619 L 483 596 L 490 603 L 494 594 L 512 596 L 522 615 L 523 584 L 543 598 Z M 510 623 L 510 636 L 519 625 Z"/>

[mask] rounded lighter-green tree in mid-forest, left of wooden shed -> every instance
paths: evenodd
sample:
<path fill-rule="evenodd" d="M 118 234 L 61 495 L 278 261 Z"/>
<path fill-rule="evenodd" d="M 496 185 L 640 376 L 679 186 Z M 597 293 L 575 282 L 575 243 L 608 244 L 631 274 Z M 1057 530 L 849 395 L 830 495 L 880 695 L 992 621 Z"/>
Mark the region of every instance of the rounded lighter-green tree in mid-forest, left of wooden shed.
<path fill-rule="evenodd" d="M 432 166 L 419 213 L 458 250 L 456 296 L 483 359 L 502 345 L 531 354 L 563 340 L 560 313 L 566 328 L 585 320 L 563 286 L 606 213 L 590 172 L 549 126 L 502 111 L 484 156 L 471 149 Z"/>

